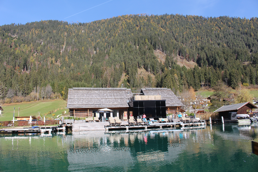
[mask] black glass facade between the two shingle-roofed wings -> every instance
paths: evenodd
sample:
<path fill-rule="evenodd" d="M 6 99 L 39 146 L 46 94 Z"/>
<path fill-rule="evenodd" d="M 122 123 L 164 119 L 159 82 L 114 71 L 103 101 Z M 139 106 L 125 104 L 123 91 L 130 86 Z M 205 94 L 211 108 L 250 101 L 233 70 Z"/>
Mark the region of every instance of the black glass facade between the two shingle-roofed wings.
<path fill-rule="evenodd" d="M 166 100 L 134 100 L 133 116 L 146 115 L 146 118 L 165 118 Z"/>

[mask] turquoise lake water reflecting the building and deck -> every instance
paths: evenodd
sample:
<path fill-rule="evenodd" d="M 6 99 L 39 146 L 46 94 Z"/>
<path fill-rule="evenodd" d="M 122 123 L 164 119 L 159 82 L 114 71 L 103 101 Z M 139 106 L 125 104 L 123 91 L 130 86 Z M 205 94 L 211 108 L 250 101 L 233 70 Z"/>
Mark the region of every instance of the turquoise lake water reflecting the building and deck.
<path fill-rule="evenodd" d="M 258 171 L 257 129 L 0 135 L 0 171 Z"/>

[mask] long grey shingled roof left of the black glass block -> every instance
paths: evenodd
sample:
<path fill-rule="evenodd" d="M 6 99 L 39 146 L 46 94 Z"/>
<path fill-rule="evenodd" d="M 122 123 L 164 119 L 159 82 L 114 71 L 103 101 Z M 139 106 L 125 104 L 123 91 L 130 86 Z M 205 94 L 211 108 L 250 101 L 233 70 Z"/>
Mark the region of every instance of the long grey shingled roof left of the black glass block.
<path fill-rule="evenodd" d="M 68 91 L 67 108 L 129 107 L 131 89 L 126 88 L 72 88 Z"/>

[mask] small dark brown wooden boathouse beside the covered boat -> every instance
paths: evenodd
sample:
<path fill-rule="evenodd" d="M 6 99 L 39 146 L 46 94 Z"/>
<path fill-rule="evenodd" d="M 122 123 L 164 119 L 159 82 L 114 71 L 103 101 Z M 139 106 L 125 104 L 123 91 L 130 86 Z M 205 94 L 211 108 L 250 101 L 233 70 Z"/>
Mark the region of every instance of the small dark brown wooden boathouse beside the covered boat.
<path fill-rule="evenodd" d="M 245 102 L 222 106 L 214 112 L 218 112 L 220 118 L 223 116 L 224 119 L 228 119 L 228 112 L 236 112 L 237 114 L 247 114 L 250 110 L 254 108 L 257 107 L 250 102 Z"/>

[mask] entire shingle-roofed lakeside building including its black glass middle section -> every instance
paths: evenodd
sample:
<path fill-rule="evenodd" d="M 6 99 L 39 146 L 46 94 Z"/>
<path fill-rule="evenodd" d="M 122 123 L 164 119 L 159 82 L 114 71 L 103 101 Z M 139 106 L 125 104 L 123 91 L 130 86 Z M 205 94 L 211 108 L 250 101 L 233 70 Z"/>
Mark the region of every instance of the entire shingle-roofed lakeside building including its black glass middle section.
<path fill-rule="evenodd" d="M 74 117 L 134 116 L 166 117 L 169 113 L 185 112 L 177 96 L 167 88 L 141 89 L 134 95 L 127 88 L 72 88 L 68 91 L 67 108 Z M 112 111 L 101 111 L 107 108 Z"/>

